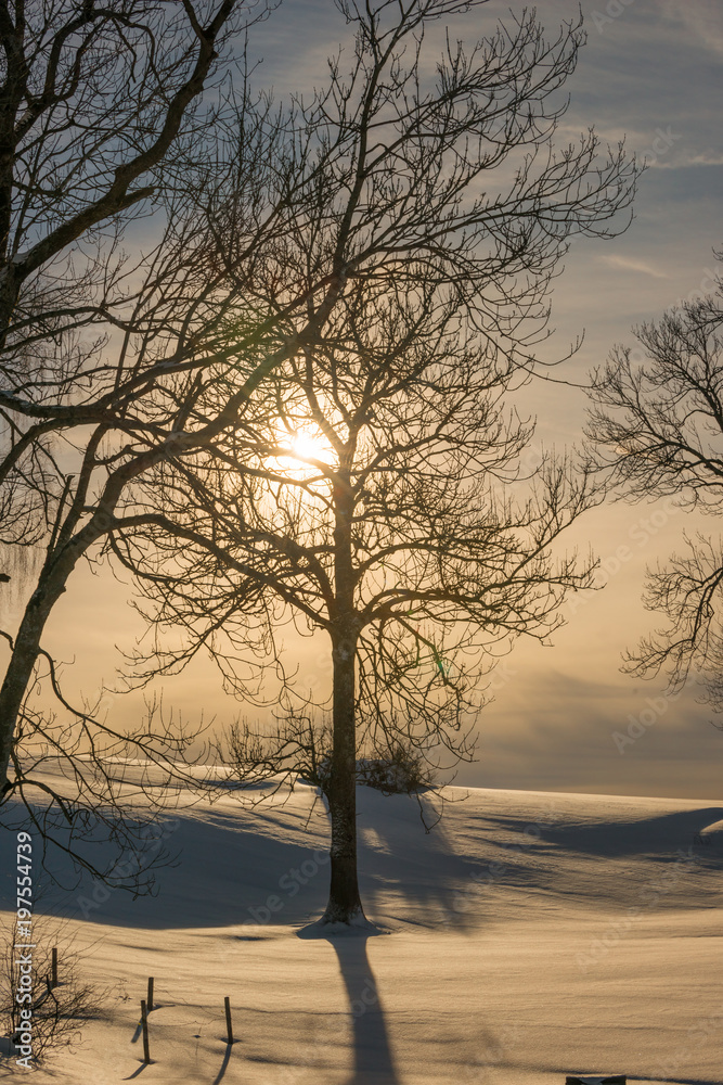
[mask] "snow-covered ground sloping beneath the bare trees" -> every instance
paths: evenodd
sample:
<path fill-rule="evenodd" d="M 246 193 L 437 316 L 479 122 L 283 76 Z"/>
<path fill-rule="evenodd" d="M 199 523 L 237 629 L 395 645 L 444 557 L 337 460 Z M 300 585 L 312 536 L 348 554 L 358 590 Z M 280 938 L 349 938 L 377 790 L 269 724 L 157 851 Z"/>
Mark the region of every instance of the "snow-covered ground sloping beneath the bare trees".
<path fill-rule="evenodd" d="M 59 906 L 93 942 L 82 969 L 106 988 L 105 1013 L 33 1080 L 722 1085 L 723 803 L 447 796 L 427 834 L 414 800 L 359 789 L 362 895 L 389 931 L 375 936 L 304 936 L 328 877 L 311 789 L 176 812 L 181 859 L 156 897 L 86 882 Z"/>

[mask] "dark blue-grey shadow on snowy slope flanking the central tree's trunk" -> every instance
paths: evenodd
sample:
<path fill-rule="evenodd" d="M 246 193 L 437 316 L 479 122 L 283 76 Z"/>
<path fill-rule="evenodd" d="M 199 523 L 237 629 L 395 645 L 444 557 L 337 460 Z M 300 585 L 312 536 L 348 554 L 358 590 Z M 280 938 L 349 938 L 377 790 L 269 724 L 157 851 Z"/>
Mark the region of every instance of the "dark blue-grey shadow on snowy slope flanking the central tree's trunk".
<path fill-rule="evenodd" d="M 408 795 L 362 787 L 358 795 L 360 883 L 370 914 L 465 927 L 469 917 L 455 910 L 454 899 L 469 881 L 469 865 L 453 853 L 442 826 L 425 833 L 417 803 Z M 49 865 L 66 888 L 47 886 L 44 911 L 143 929 L 243 924 L 242 936 L 249 940 L 264 936 L 266 927 L 308 922 L 323 911 L 330 869 L 325 832 L 300 832 L 273 807 L 251 815 L 219 808 L 203 816 L 173 813 L 158 819 L 177 861 L 157 870 L 157 895 L 133 899 L 87 875 L 76 885 L 67 856 L 56 852 Z M 0 838 L 0 860 L 8 860 L 8 869 L 11 835 Z M 92 842 L 88 848 L 92 852 Z M 101 865 L 103 857 L 96 856 Z M 150 858 L 151 846 L 142 860 Z"/>

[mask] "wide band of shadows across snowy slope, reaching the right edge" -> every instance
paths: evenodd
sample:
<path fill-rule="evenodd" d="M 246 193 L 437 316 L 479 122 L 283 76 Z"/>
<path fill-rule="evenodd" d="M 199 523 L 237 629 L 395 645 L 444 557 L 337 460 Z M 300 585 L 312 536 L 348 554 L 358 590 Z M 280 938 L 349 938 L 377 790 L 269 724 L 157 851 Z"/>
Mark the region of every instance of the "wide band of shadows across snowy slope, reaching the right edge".
<path fill-rule="evenodd" d="M 640 856 L 647 865 L 644 877 L 651 877 L 651 864 L 674 865 L 679 848 L 687 853 L 693 846 L 701 867 L 721 865 L 720 850 L 696 835 L 721 819 L 720 806 L 643 817 L 633 810 L 605 824 L 567 818 L 544 826 L 535 840 L 520 831 L 521 817 L 505 813 L 479 816 L 473 807 L 464 822 L 467 835 L 457 838 L 448 835 L 443 822 L 425 834 L 416 803 L 406 795 L 384 796 L 360 787 L 358 803 L 363 898 L 372 912 L 389 911 L 419 926 L 441 922 L 465 930 L 493 919 L 495 906 L 485 889 L 491 860 L 504 868 L 499 884 L 585 901 L 592 891 L 601 906 L 635 899 L 641 878 L 635 863 L 629 870 L 620 863 L 615 878 L 601 885 L 601 858 L 624 863 Z M 253 815 L 242 808 L 176 812 L 167 822 L 168 846 L 180 853 L 180 861 L 158 871 L 157 896 L 133 901 L 131 894 L 85 877 L 72 891 L 48 886 L 43 911 L 145 930 L 244 924 L 248 939 L 262 937 L 267 924 L 302 923 L 323 909 L 328 885 L 325 833 L 299 831 L 304 813 L 292 818 L 274 807 Z M 4 825 L 16 816 L 25 816 L 18 804 L 3 808 Z M 467 839 L 470 854 L 464 854 Z M 11 869 L 14 840 L 10 831 L 0 833 L 0 866 L 5 870 Z M 90 857 L 98 844 L 89 840 Z M 49 855 L 49 867 L 74 884 L 66 856 Z M 10 899 L 11 891 L 9 880 L 0 883 L 0 895 Z M 469 904 L 466 910 L 461 899 Z M 702 891 L 699 899 L 709 906 Z"/>

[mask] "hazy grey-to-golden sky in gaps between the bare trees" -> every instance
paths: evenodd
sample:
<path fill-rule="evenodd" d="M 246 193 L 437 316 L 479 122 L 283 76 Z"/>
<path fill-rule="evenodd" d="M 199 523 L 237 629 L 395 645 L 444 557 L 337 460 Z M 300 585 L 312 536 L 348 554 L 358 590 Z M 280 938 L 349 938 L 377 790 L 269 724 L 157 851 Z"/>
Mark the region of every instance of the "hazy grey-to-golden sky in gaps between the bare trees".
<path fill-rule="evenodd" d="M 489 3 L 450 26 L 474 41 L 508 17 L 514 2 Z M 539 0 L 551 35 L 574 18 L 573 0 Z M 719 0 L 609 0 L 582 3 L 588 43 L 567 84 L 571 101 L 559 139 L 593 126 L 611 143 L 624 137 L 649 168 L 640 183 L 634 220 L 621 237 L 573 245 L 553 294 L 555 336 L 547 358 L 564 356 L 584 331 L 578 354 L 557 375 L 582 383 L 616 343 L 634 345 L 632 328 L 682 298 L 709 292 L 723 247 L 723 5 Z M 307 92 L 324 79 L 325 58 L 348 35 L 332 0 L 283 0 L 253 31 L 262 65 L 257 82 L 277 98 Z M 558 449 L 579 441 L 585 397 L 578 388 L 537 383 L 521 395 L 537 414 L 537 443 Z M 533 450 L 535 445 L 533 444 Z M 664 695 L 662 681 L 620 673 L 621 652 L 655 627 L 641 602 L 646 564 L 680 545 L 689 514 L 673 505 L 608 503 L 570 532 L 570 546 L 592 545 L 602 559 L 604 590 L 576 596 L 552 647 L 518 643 L 493 678 L 494 700 L 478 720 L 478 761 L 456 782 L 607 794 L 712 799 L 720 794 L 723 733 L 695 691 Z M 708 521 L 707 531 L 718 532 Z M 93 697 L 114 681 L 120 658 L 143 633 L 128 605 L 130 588 L 107 571 L 83 570 L 48 630 L 47 647 L 66 661 L 68 688 Z M 117 647 L 116 647 L 117 646 Z M 307 686 L 328 677 L 323 649 L 287 641 Z M 195 664 L 166 682 L 166 703 L 195 718 L 219 720 L 243 711 L 224 697 L 210 664 Z M 142 711 L 140 694 L 106 698 L 108 719 L 125 725 Z"/>

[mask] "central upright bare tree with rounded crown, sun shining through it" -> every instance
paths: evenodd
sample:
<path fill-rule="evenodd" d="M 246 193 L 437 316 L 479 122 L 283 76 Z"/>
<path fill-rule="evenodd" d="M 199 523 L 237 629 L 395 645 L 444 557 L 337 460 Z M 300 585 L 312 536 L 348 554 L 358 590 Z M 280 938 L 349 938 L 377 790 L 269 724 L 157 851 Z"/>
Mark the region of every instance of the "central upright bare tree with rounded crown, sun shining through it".
<path fill-rule="evenodd" d="M 502 401 L 520 371 L 459 316 L 434 286 L 374 296 L 365 283 L 259 390 L 246 433 L 154 480 L 147 501 L 163 513 L 149 512 L 146 542 L 111 539 L 155 600 L 149 620 L 185 634 L 181 650 L 158 647 L 141 681 L 206 648 L 249 698 L 283 667 L 286 618 L 328 637 L 325 922 L 363 918 L 359 748 L 469 758 L 474 680 L 515 638 L 546 640 L 566 591 L 590 584 L 590 564 L 551 549 L 596 495 L 584 472 L 550 458 L 521 507 L 500 493 L 530 435 Z M 293 715 L 270 740 L 241 738 L 258 778 L 310 765 L 319 776 L 319 745 Z"/>

